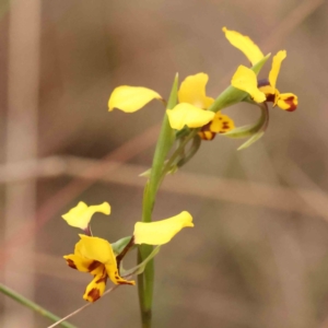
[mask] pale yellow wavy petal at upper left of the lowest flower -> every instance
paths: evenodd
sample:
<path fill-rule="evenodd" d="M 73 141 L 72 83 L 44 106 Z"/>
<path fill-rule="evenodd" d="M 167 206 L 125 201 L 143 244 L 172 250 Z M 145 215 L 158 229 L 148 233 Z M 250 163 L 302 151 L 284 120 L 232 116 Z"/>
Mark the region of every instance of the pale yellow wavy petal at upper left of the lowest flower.
<path fill-rule="evenodd" d="M 85 230 L 95 212 L 109 215 L 109 203 L 105 201 L 98 206 L 87 207 L 86 203 L 80 201 L 77 207 L 72 208 L 68 213 L 61 215 L 61 218 L 66 220 L 69 225 Z"/>

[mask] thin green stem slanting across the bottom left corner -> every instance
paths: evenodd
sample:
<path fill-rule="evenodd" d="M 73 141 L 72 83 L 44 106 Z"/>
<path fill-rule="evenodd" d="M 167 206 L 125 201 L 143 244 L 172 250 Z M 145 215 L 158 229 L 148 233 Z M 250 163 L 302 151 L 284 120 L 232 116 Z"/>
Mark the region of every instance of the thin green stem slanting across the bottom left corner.
<path fill-rule="evenodd" d="M 13 290 L 7 288 L 2 283 L 0 283 L 0 292 L 3 293 L 7 296 L 13 298 L 14 301 L 21 303 L 22 305 L 24 305 L 26 307 L 30 307 L 31 309 L 35 311 L 36 313 L 40 314 L 42 316 L 47 317 L 48 319 L 52 320 L 54 323 L 60 320 L 60 317 L 57 317 L 56 315 L 54 315 L 49 311 L 45 309 L 44 307 L 40 307 L 36 303 L 27 300 L 26 297 L 22 296 L 21 294 L 19 294 L 16 292 L 14 292 Z M 66 327 L 66 328 L 77 328 L 75 326 L 73 326 L 69 323 L 66 323 L 66 321 L 62 321 L 60 325 L 62 327 Z"/>

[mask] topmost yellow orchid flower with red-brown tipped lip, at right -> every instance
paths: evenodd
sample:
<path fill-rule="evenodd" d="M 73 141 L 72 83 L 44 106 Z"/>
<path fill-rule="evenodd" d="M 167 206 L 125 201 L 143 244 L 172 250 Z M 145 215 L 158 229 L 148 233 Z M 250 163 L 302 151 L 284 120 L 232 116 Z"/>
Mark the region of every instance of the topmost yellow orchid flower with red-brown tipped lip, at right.
<path fill-rule="evenodd" d="M 261 60 L 265 57 L 259 47 L 248 36 L 242 35 L 236 31 L 230 31 L 226 27 L 223 27 L 222 30 L 227 40 L 234 47 L 239 49 L 248 58 L 253 66 L 259 62 L 259 60 Z M 281 94 L 276 87 L 276 82 L 280 72 L 281 62 L 285 57 L 285 50 L 278 51 L 278 54 L 273 57 L 272 60 L 272 67 L 269 73 L 269 79 L 258 81 L 257 87 L 260 92 L 262 92 L 266 95 L 267 102 L 273 103 L 273 107 L 278 106 L 281 109 L 293 112 L 296 109 L 298 104 L 297 96 L 292 93 Z M 244 69 L 244 72 L 246 70 Z M 234 83 L 232 83 L 232 85 L 246 92 L 248 92 L 246 89 L 250 89 L 254 92 L 254 75 L 251 73 L 248 73 L 247 77 L 244 78 L 243 83 L 241 83 L 241 85 L 236 86 L 234 85 Z M 249 94 L 251 95 L 251 97 L 254 97 L 254 94 Z M 255 102 L 258 102 L 255 97 L 254 99 Z"/>

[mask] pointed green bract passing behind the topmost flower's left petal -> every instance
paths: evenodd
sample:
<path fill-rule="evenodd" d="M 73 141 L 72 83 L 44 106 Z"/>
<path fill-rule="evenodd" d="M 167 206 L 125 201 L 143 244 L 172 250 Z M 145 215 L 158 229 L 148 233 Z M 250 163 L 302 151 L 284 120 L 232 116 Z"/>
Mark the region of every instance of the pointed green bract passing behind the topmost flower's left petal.
<path fill-rule="evenodd" d="M 268 54 L 250 69 L 256 74 L 258 74 L 270 56 L 271 54 Z M 219 97 L 213 102 L 213 104 L 208 108 L 208 110 L 218 113 L 223 108 L 243 102 L 247 97 L 249 97 L 247 92 L 230 85 L 219 95 Z"/>

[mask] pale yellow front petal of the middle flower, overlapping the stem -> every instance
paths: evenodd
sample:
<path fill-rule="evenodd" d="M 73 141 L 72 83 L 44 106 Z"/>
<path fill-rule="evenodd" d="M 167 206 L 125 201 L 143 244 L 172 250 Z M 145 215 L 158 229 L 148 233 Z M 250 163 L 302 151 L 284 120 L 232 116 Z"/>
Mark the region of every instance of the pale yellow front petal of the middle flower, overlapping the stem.
<path fill-rule="evenodd" d="M 173 109 L 167 109 L 166 113 L 171 127 L 176 130 L 181 130 L 185 126 L 200 128 L 215 116 L 213 112 L 207 112 L 186 103 L 178 104 Z"/>

